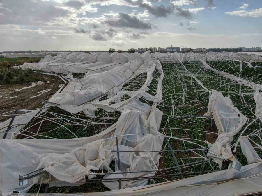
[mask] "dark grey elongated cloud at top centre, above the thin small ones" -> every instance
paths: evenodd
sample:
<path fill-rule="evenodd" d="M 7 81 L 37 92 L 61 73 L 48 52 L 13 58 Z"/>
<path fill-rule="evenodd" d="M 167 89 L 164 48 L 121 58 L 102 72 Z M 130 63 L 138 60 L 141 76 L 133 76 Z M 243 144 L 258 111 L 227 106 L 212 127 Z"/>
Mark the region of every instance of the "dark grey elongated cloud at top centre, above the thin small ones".
<path fill-rule="evenodd" d="M 136 29 L 152 29 L 150 23 L 145 23 L 139 20 L 135 16 L 129 16 L 128 14 L 119 13 L 119 18 L 109 18 L 105 21 L 106 24 L 113 27 L 129 27 Z"/>

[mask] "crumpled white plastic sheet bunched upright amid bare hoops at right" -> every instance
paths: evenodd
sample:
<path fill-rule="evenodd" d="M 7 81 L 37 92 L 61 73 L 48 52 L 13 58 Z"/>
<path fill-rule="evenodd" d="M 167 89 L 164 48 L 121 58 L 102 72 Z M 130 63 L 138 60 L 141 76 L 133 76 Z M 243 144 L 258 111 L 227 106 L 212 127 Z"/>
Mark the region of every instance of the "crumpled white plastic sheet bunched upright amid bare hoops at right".
<path fill-rule="evenodd" d="M 210 150 L 220 154 L 224 158 L 238 162 L 231 152 L 230 145 L 233 141 L 233 136 L 236 135 L 247 122 L 247 117 L 234 107 L 229 97 L 224 97 L 221 92 L 217 92 L 216 90 L 212 90 L 208 107 L 210 107 L 218 129 L 218 138 L 215 143 L 209 144 Z M 207 156 L 212 157 L 213 155 L 208 153 Z M 222 167 L 222 161 L 223 159 L 215 160 L 215 162 L 219 164 L 220 169 Z"/>

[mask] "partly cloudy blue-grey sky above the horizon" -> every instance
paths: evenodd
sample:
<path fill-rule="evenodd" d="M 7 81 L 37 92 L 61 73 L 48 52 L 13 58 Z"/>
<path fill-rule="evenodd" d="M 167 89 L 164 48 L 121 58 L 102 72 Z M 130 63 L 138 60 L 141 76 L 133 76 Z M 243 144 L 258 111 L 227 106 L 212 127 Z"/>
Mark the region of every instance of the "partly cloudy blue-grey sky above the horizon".
<path fill-rule="evenodd" d="M 0 51 L 262 46 L 262 0 L 0 0 Z"/>

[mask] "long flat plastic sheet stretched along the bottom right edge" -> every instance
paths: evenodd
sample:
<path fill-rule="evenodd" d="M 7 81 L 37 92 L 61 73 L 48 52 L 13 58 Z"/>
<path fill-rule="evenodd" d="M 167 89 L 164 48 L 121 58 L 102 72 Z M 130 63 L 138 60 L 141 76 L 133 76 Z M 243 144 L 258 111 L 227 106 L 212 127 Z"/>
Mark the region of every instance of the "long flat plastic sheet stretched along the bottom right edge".
<path fill-rule="evenodd" d="M 121 190 L 95 193 L 69 193 L 72 196 L 134 196 L 134 195 L 250 195 L 262 192 L 262 163 L 242 166 L 241 170 L 233 168 L 212 172 L 186 179 L 139 186 Z M 12 194 L 17 195 L 17 194 Z M 36 195 L 36 194 L 26 194 Z M 46 196 L 47 194 L 38 194 Z M 48 194 L 49 196 L 65 196 L 68 193 Z"/>

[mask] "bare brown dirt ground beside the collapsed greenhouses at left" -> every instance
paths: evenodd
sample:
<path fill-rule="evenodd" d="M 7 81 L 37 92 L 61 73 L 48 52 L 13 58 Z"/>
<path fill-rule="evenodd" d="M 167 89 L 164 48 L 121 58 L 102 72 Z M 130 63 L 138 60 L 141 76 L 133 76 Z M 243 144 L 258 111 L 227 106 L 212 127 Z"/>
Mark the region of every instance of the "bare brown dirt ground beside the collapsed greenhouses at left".
<path fill-rule="evenodd" d="M 15 89 L 22 89 L 23 87 L 31 86 L 28 84 L 15 84 L 15 85 L 0 85 L 0 114 L 13 111 L 16 109 L 33 109 L 42 107 L 44 104 L 42 100 L 48 100 L 59 89 L 60 84 L 64 82 L 56 76 L 44 75 L 49 83 L 37 85 L 32 88 L 15 91 Z M 51 91 L 38 95 L 40 91 L 51 89 Z M 4 96 L 3 96 L 4 95 Z"/>

